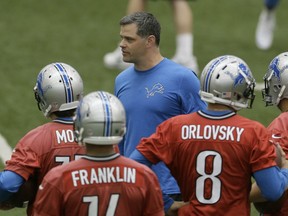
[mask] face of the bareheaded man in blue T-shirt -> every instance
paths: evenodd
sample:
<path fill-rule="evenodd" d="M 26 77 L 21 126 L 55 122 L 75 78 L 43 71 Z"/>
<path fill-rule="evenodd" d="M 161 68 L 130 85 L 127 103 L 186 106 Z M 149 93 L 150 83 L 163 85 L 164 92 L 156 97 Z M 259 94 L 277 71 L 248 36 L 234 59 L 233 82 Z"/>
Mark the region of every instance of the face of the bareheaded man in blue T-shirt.
<path fill-rule="evenodd" d="M 145 58 L 147 38 L 137 35 L 137 25 L 128 24 L 120 28 L 120 47 L 124 62 L 139 64 Z"/>

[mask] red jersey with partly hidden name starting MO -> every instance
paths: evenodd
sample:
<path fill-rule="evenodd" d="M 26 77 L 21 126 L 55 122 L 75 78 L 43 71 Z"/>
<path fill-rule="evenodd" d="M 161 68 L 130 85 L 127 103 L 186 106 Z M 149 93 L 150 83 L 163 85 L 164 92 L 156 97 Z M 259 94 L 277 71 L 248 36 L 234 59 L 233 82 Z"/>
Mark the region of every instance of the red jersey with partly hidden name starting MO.
<path fill-rule="evenodd" d="M 35 178 L 38 188 L 50 169 L 84 154 L 85 149 L 74 141 L 73 121 L 54 120 L 31 130 L 17 143 L 5 170 L 25 180 Z M 28 215 L 32 205 L 29 203 Z"/>

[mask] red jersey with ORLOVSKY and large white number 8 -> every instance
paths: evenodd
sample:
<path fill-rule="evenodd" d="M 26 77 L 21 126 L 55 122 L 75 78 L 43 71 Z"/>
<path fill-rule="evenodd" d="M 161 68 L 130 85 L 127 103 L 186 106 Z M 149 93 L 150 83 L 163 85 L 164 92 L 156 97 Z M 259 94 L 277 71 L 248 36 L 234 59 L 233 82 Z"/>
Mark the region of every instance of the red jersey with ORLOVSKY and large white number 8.
<path fill-rule="evenodd" d="M 188 215 L 250 215 L 252 173 L 276 165 L 267 129 L 234 112 L 173 117 L 137 149 L 169 167 Z"/>

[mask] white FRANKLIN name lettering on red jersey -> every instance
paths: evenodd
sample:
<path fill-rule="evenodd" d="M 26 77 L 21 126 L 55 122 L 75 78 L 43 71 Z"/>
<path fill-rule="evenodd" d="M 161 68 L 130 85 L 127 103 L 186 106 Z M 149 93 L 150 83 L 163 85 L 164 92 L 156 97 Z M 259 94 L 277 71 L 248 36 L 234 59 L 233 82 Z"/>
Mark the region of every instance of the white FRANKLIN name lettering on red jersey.
<path fill-rule="evenodd" d="M 71 172 L 73 186 L 101 183 L 135 183 L 136 169 L 131 167 L 101 167 Z"/>

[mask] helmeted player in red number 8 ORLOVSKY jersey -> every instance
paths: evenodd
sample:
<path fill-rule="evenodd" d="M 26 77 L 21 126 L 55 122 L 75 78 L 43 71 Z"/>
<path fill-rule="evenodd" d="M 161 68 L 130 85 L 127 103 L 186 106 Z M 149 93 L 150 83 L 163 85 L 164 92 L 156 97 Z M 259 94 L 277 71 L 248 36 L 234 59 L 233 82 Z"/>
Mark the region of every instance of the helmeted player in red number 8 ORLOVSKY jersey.
<path fill-rule="evenodd" d="M 166 120 L 131 158 L 167 165 L 190 203 L 178 215 L 250 215 L 251 176 L 266 199 L 276 200 L 288 186 L 288 163 L 282 158 L 279 169 L 267 129 L 237 113 L 255 97 L 255 79 L 242 59 L 211 60 L 200 82 L 207 110 Z"/>

